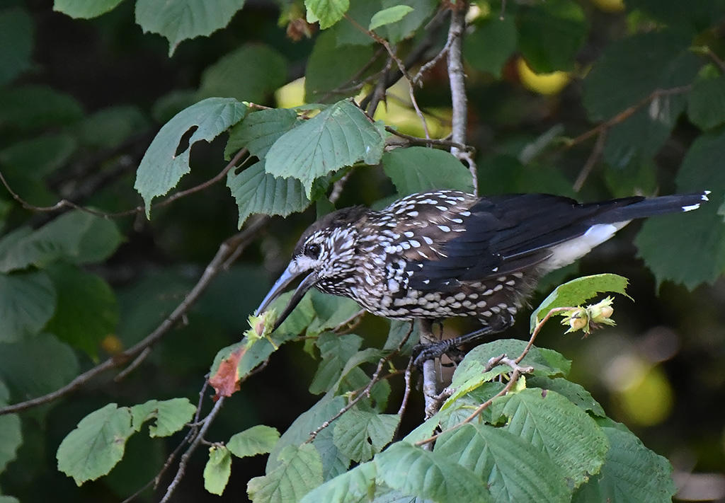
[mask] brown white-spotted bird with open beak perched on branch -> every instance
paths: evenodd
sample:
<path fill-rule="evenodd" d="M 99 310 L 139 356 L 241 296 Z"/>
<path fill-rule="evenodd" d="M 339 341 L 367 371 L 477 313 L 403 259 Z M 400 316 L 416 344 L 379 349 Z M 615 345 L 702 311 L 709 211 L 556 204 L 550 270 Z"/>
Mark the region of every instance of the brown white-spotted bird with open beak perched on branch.
<path fill-rule="evenodd" d="M 393 320 L 479 320 L 473 333 L 419 348 L 420 365 L 505 331 L 543 275 L 584 257 L 631 220 L 695 210 L 708 194 L 579 203 L 446 189 L 410 194 L 381 210 L 338 209 L 302 233 L 257 314 L 304 275 L 272 330 L 312 287 Z"/>

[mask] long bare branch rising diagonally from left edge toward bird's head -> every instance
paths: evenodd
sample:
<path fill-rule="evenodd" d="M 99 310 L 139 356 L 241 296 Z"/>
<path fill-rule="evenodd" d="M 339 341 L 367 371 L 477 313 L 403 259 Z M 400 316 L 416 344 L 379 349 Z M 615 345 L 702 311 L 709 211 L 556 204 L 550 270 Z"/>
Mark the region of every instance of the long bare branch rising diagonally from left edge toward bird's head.
<path fill-rule="evenodd" d="M 202 274 L 202 277 L 199 278 L 199 281 L 196 282 L 196 285 L 194 285 L 194 287 L 191 288 L 188 294 L 186 294 L 186 297 L 184 297 L 181 304 L 179 304 L 173 310 L 173 312 L 142 341 L 138 342 L 134 346 L 131 346 L 129 349 L 126 349 L 125 352 L 117 354 L 114 357 L 111 357 L 106 361 L 102 362 L 101 364 L 96 365 L 96 367 L 93 367 L 90 370 L 87 370 L 86 372 L 78 375 L 78 377 L 70 381 L 70 383 L 67 383 L 67 385 L 57 389 L 56 391 L 52 391 L 49 394 L 38 396 L 30 400 L 26 400 L 25 402 L 8 405 L 7 407 L 0 407 L 0 415 L 20 412 L 22 410 L 37 407 L 38 405 L 53 402 L 54 400 L 62 398 L 62 396 L 66 396 L 67 394 L 76 391 L 78 388 L 88 383 L 88 381 L 96 378 L 98 375 L 107 372 L 107 370 L 111 370 L 116 367 L 122 367 L 130 359 L 133 359 L 138 356 L 138 354 L 141 354 L 141 352 L 144 352 L 146 348 L 156 344 L 159 339 L 165 336 L 166 333 L 168 333 L 171 328 L 173 328 L 176 323 L 178 323 L 178 321 L 181 320 L 184 315 L 186 315 L 186 312 L 188 312 L 188 309 L 190 309 L 194 302 L 196 302 L 196 299 L 199 299 L 199 296 L 207 289 L 212 279 L 215 278 L 215 276 L 220 272 L 221 265 L 223 265 L 228 255 L 240 246 L 247 246 L 247 244 L 252 241 L 254 236 L 257 235 L 257 232 L 264 228 L 266 221 L 266 219 L 256 220 L 253 223 L 250 223 L 249 226 L 241 232 L 236 233 L 234 236 L 231 236 L 231 238 L 228 238 L 226 241 L 224 241 L 219 246 L 215 257 L 212 259 L 209 265 L 207 265 L 204 273 Z"/>

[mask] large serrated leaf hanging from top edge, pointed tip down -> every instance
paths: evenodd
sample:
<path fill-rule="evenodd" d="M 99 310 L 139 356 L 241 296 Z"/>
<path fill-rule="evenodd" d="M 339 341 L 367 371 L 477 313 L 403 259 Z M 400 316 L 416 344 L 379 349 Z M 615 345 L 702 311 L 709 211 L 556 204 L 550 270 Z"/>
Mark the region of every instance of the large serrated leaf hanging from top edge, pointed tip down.
<path fill-rule="evenodd" d="M 169 57 L 181 41 L 207 36 L 229 24 L 244 0 L 155 0 L 136 1 L 136 22 L 146 32 L 158 33 L 169 41 Z"/>

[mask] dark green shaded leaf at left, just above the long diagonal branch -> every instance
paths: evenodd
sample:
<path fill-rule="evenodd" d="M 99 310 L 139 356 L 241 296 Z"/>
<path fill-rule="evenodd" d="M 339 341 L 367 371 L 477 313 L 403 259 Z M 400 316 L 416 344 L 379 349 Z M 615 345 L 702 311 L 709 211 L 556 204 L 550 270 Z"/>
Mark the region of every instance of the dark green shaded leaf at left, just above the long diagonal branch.
<path fill-rule="evenodd" d="M 115 333 L 118 323 L 118 306 L 111 287 L 100 276 L 72 265 L 54 265 L 48 273 L 57 291 L 57 307 L 47 330 L 96 357 L 99 343 Z"/>

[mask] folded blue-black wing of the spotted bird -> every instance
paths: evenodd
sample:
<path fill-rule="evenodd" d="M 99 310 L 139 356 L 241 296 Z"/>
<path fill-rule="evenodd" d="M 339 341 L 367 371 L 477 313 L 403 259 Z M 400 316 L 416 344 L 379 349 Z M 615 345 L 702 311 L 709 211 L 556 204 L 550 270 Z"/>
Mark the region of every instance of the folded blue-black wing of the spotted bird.
<path fill-rule="evenodd" d="M 579 204 L 561 196 L 515 194 L 466 199 L 463 206 L 442 204 L 445 211 L 429 204 L 430 209 L 418 209 L 415 220 L 428 225 L 416 236 L 426 236 L 437 252 L 429 259 L 407 255 L 409 286 L 454 290 L 463 281 L 500 278 L 534 267 L 550 257 L 553 246 L 584 235 L 598 223 L 597 215 L 640 199 Z"/>

